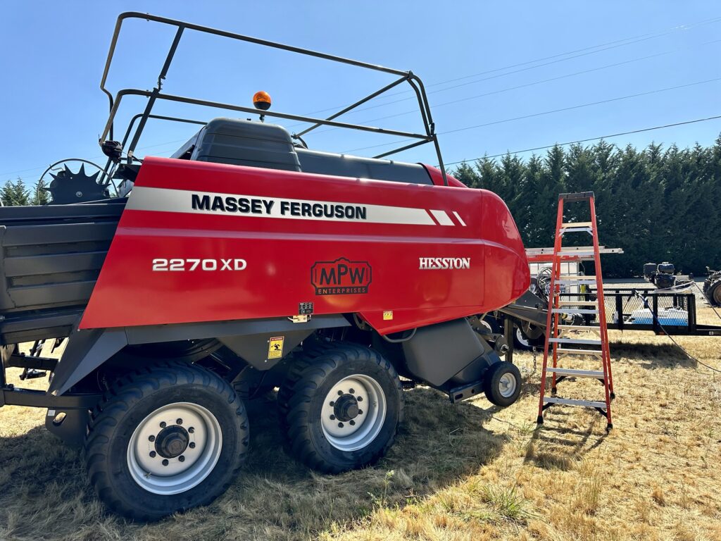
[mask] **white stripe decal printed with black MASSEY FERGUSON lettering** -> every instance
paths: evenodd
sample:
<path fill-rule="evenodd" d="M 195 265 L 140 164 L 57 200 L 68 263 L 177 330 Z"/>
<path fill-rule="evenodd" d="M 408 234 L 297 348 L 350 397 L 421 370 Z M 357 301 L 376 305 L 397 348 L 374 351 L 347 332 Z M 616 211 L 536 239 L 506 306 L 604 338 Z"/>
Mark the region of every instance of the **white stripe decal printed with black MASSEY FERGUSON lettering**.
<path fill-rule="evenodd" d="M 199 198 L 209 198 L 210 206 L 195 205 L 193 208 L 193 195 L 196 201 Z M 257 202 L 257 212 L 242 211 L 232 208 L 227 200 L 233 200 L 233 206 L 239 205 L 241 200 L 245 203 Z M 218 203 L 213 209 L 213 203 Z M 304 207 L 305 206 L 305 207 Z M 310 206 L 310 207 L 309 207 Z M 194 190 L 174 190 L 172 188 L 149 188 L 136 186 L 131 192 L 128 203 L 125 205 L 133 211 L 161 211 L 161 212 L 187 212 L 192 214 L 220 214 L 226 216 L 247 216 L 255 218 L 289 218 L 317 221 L 360 221 L 372 224 L 411 224 L 435 225 L 433 219 L 425 208 L 410 208 L 402 206 L 369 205 L 364 203 L 340 203 L 334 201 L 311 201 L 305 199 L 286 199 L 267 197 L 264 195 L 237 195 L 229 193 L 200 192 Z M 303 212 L 304 208 L 306 212 Z M 312 214 L 313 209 L 321 215 Z M 327 212 L 331 216 L 327 216 Z M 348 211 L 343 215 L 343 211 Z M 324 212 L 325 211 L 325 212 Z M 341 216 L 338 216 L 338 214 Z M 454 225 L 448 215 L 443 211 L 431 211 L 441 224 Z M 439 217 L 440 213 L 442 217 Z M 350 216 L 349 216 L 350 214 Z M 448 222 L 446 224 L 445 222 Z"/>

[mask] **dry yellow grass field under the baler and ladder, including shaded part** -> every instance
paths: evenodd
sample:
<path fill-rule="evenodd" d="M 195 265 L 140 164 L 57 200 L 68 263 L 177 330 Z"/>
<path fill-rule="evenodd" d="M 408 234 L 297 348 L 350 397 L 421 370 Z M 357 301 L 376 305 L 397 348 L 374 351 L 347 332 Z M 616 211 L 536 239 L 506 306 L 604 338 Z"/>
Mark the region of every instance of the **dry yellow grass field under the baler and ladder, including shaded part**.
<path fill-rule="evenodd" d="M 721 324 L 707 307 L 699 322 Z M 535 429 L 541 359 L 534 371 L 530 353 L 516 354 L 526 384 L 512 407 L 407 392 L 388 457 L 343 475 L 289 459 L 274 404 L 260 399 L 249 406 L 252 453 L 236 483 L 211 506 L 156 524 L 105 513 L 79 452 L 43 428 L 44 411 L 2 408 L 0 539 L 721 540 L 721 374 L 665 337 L 610 338 L 610 434 L 578 408 L 552 408 Z M 721 337 L 678 341 L 721 367 Z M 601 386 L 570 381 L 559 394 L 600 397 Z"/>

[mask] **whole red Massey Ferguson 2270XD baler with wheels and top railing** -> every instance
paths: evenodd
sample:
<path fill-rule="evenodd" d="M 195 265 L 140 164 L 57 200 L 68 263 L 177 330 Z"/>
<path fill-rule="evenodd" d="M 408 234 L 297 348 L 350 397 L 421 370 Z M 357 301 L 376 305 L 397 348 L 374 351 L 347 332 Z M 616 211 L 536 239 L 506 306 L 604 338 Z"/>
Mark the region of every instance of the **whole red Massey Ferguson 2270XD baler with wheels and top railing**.
<path fill-rule="evenodd" d="M 176 30 L 151 92 L 105 89 L 122 22 Z M 398 77 L 417 95 L 423 133 L 306 118 L 161 92 L 180 37 L 194 30 Z M 243 401 L 278 388 L 288 449 L 309 467 L 372 464 L 403 417 L 403 390 L 452 402 L 521 388 L 478 317 L 528 287 L 505 203 L 443 171 L 430 108 L 411 72 L 372 66 L 147 14 L 118 19 L 103 75 L 108 156 L 94 177 L 55 175 L 48 206 L 0 208 L 0 405 L 48 408 L 46 426 L 84 445 L 89 481 L 110 509 L 137 519 L 212 501 L 249 445 Z M 148 98 L 121 141 L 123 96 Z M 222 107 L 258 120 L 208 123 L 151 113 L 157 100 Z M 304 122 L 291 135 L 265 115 Z M 134 151 L 148 120 L 202 128 L 170 159 Z M 308 149 L 317 126 L 432 143 L 440 169 Z M 105 197 L 112 180 L 114 197 Z M 121 194 L 124 194 L 120 196 Z M 76 203 L 69 203 L 76 201 Z M 67 338 L 61 359 L 20 343 Z M 499 351 L 496 351 L 499 350 Z M 6 383 L 5 369 L 50 371 L 47 392 Z M 28 372 L 30 371 L 30 372 Z M 402 379 L 401 379 L 402 378 Z"/>

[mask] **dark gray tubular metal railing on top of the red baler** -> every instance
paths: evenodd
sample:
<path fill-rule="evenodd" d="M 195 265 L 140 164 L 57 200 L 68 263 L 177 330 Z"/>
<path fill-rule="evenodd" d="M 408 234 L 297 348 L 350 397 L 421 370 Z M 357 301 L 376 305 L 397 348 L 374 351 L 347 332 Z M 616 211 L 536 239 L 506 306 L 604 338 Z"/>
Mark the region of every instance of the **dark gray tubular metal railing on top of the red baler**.
<path fill-rule="evenodd" d="M 123 25 L 123 21 L 125 19 L 143 19 L 146 21 L 151 22 L 159 22 L 163 25 L 169 25 L 172 27 L 177 28 L 175 32 L 175 36 L 173 38 L 172 44 L 170 45 L 170 48 L 168 50 L 167 56 L 165 58 L 165 61 L 163 63 L 162 68 L 160 69 L 159 75 L 158 75 L 158 81 L 156 84 L 156 87 L 152 89 L 151 91 L 148 90 L 141 90 L 141 89 L 121 89 L 118 91 L 117 94 L 115 94 L 115 97 L 113 97 L 112 93 L 105 87 L 105 84 L 107 82 L 107 75 L 110 71 L 110 64 L 112 63 L 112 58 L 115 54 L 115 46 L 118 43 L 118 35 L 120 35 L 120 28 Z M 185 30 L 195 30 L 197 32 L 204 32 L 206 34 L 211 35 L 217 35 L 223 38 L 230 38 L 233 40 L 240 40 L 245 41 L 248 43 L 255 43 L 257 45 L 265 45 L 267 47 L 275 48 L 275 49 L 281 49 L 281 50 L 287 50 L 292 53 L 298 53 L 306 56 L 312 56 L 314 58 L 322 58 L 324 60 L 329 60 L 337 63 L 344 63 L 348 64 L 350 66 L 358 66 L 360 68 L 365 69 L 371 69 L 374 71 L 382 71 L 386 74 L 392 74 L 395 76 L 398 76 L 399 79 L 396 81 L 387 84 L 385 87 L 377 90 L 376 92 L 373 92 L 372 94 L 368 94 L 368 96 L 361 98 L 361 100 L 358 100 L 357 102 L 353 103 L 353 105 L 348 105 L 348 107 L 344 107 L 342 110 L 338 111 L 337 113 L 334 113 L 330 115 L 328 118 L 312 118 L 307 116 L 301 116 L 301 115 L 290 115 L 287 113 L 276 113 L 274 111 L 266 110 L 266 111 L 259 111 L 253 107 L 243 107 L 241 105 L 234 105 L 229 103 L 221 103 L 221 102 L 213 102 L 208 100 L 198 100 L 196 98 L 190 98 L 190 97 L 183 97 L 183 96 L 177 96 L 173 94 L 162 94 L 162 82 L 163 79 L 165 79 L 165 76 L 167 75 L 168 69 L 170 67 L 170 64 L 172 63 L 172 60 L 175 56 L 175 52 L 177 50 L 178 44 L 180 43 L 180 38 L 182 38 L 183 33 Z M 420 115 L 423 120 L 423 126 L 425 129 L 425 133 L 411 133 L 411 132 L 405 132 L 405 131 L 397 131 L 397 130 L 388 130 L 385 128 L 376 128 L 373 126 L 363 126 L 360 124 L 352 124 L 352 123 L 345 123 L 345 122 L 338 122 L 337 120 L 334 120 L 335 118 L 339 117 L 340 115 L 343 115 L 345 113 L 348 113 L 348 111 L 355 109 L 355 107 L 358 107 L 360 105 L 363 105 L 364 103 L 373 100 L 373 98 L 380 96 L 381 94 L 384 94 L 384 92 L 389 91 L 390 89 L 399 86 L 400 84 L 407 82 L 407 84 L 410 85 L 410 87 L 415 92 L 415 95 L 417 97 L 418 106 L 420 109 Z M 118 16 L 118 21 L 115 23 L 115 31 L 112 34 L 112 41 L 110 43 L 110 50 L 107 53 L 107 60 L 105 61 L 105 70 L 102 74 L 102 79 L 100 81 L 100 89 L 102 92 L 105 92 L 107 94 L 108 100 L 110 101 L 110 116 L 107 119 L 107 123 L 105 124 L 105 129 L 102 131 L 102 136 L 100 136 L 100 144 L 102 145 L 105 143 L 107 139 L 112 139 L 113 137 L 113 123 L 115 121 L 115 115 L 118 113 L 118 107 L 120 107 L 120 102 L 123 100 L 123 97 L 125 96 L 145 96 L 148 98 L 147 105 L 145 107 L 145 110 L 140 115 L 136 115 L 136 117 L 131 120 L 131 125 L 128 126 L 128 130 L 125 133 L 125 138 L 123 139 L 123 145 L 127 141 L 128 137 L 130 136 L 130 133 L 133 129 L 134 124 L 136 123 L 136 120 L 138 118 L 140 119 L 140 122 L 138 123 L 138 126 L 136 130 L 133 133 L 133 137 L 131 139 L 130 146 L 128 149 L 124 149 L 127 152 L 128 156 L 128 163 L 130 163 L 133 160 L 133 151 L 135 151 L 136 146 L 138 145 L 138 140 L 140 139 L 141 133 L 143 132 L 143 129 L 145 128 L 145 125 L 149 118 L 156 118 L 160 120 L 173 120 L 173 121 L 179 121 L 179 122 L 190 122 L 190 123 L 200 123 L 197 120 L 186 120 L 182 118 L 172 118 L 172 117 L 162 117 L 157 115 L 151 115 L 151 111 L 153 109 L 153 106 L 156 102 L 156 100 L 167 100 L 171 102 L 180 102 L 180 103 L 189 103 L 193 105 L 203 105 L 205 107 L 217 107 L 220 109 L 226 109 L 231 111 L 238 111 L 242 113 L 254 113 L 254 114 L 262 114 L 270 117 L 275 118 L 283 118 L 285 120 L 295 120 L 298 122 L 304 122 L 304 123 L 311 123 L 312 126 L 309 128 L 306 128 L 304 131 L 301 131 L 300 133 L 293 133 L 293 138 L 297 138 L 301 140 L 301 137 L 304 136 L 306 133 L 309 133 L 310 131 L 313 131 L 314 129 L 318 128 L 319 126 L 333 126 L 335 128 L 348 128 L 353 130 L 360 130 L 360 131 L 369 131 L 372 133 L 383 133 L 386 135 L 395 135 L 399 137 L 405 137 L 405 138 L 412 138 L 417 139 L 417 141 L 404 145 L 398 149 L 393 149 L 391 151 L 384 152 L 382 154 L 378 154 L 377 156 L 374 156 L 374 158 L 383 158 L 386 156 L 390 156 L 391 154 L 396 154 L 397 152 L 404 151 L 407 149 L 412 149 L 415 146 L 420 146 L 426 143 L 433 143 L 433 146 L 435 147 L 435 153 L 436 157 L 438 159 L 439 168 L 443 172 L 443 182 L 445 185 L 448 185 L 448 178 L 446 177 L 446 170 L 443 166 L 443 157 L 441 156 L 441 147 L 438 145 L 438 137 L 435 133 L 435 125 L 433 123 L 433 117 L 430 113 L 430 106 L 428 105 L 428 98 L 425 94 L 425 87 L 423 87 L 423 82 L 420 80 L 418 76 L 413 74 L 412 71 L 400 71 L 397 69 L 391 69 L 386 68 L 384 66 L 376 66 L 371 63 L 361 62 L 352 60 L 350 58 L 342 58 L 340 56 L 333 56 L 326 53 L 319 53 L 314 50 L 308 50 L 304 48 L 298 48 L 298 47 L 292 47 L 291 45 L 284 45 L 282 43 L 275 43 L 272 41 L 267 40 L 261 40 L 258 38 L 251 38 L 246 35 L 236 34 L 234 32 L 226 32 L 224 30 L 217 30 L 215 28 L 211 27 L 205 27 L 201 25 L 194 25 L 189 22 L 182 22 L 175 19 L 168 19 L 166 17 L 157 17 L 156 15 L 150 15 L 150 14 L 142 14 L 139 12 L 125 12 L 120 14 Z M 302 140 L 301 140 L 302 141 Z M 109 170 L 111 167 L 110 161 L 107 164 L 106 171 Z"/>

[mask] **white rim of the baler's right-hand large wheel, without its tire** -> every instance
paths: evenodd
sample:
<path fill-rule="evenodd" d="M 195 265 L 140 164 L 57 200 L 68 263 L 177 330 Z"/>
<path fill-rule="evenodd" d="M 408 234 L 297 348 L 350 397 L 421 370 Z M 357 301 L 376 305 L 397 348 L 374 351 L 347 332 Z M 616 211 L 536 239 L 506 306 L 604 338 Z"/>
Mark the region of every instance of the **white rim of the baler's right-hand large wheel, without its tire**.
<path fill-rule="evenodd" d="M 345 377 L 323 400 L 323 434 L 340 451 L 363 449 L 383 428 L 386 410 L 386 395 L 379 382 L 364 374 Z"/>

